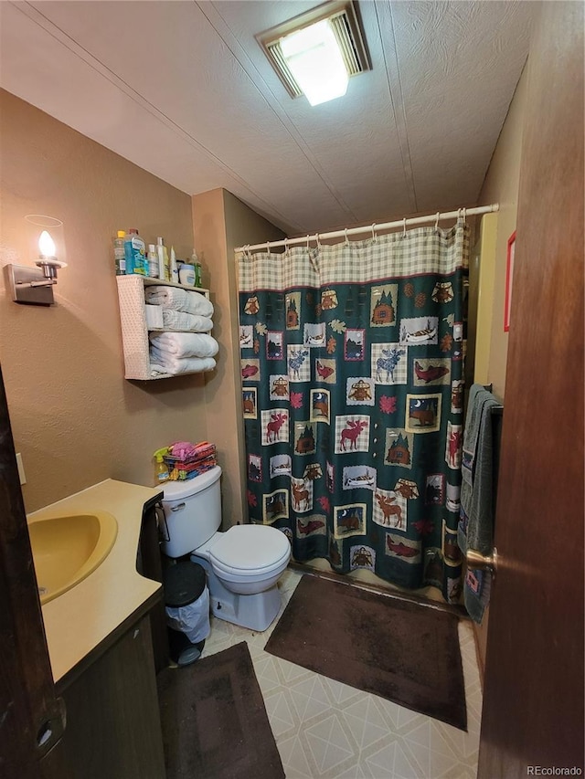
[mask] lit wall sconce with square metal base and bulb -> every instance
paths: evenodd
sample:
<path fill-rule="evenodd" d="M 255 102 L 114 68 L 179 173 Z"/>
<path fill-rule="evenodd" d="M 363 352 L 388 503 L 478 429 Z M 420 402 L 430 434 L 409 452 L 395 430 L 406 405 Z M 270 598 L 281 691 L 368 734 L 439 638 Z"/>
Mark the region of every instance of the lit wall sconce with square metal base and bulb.
<path fill-rule="evenodd" d="M 35 306 L 50 306 L 55 302 L 53 284 L 57 284 L 58 268 L 67 268 L 67 263 L 59 260 L 55 254 L 55 241 L 47 230 L 43 230 L 38 238 L 38 268 L 27 265 L 5 266 L 12 300 Z"/>

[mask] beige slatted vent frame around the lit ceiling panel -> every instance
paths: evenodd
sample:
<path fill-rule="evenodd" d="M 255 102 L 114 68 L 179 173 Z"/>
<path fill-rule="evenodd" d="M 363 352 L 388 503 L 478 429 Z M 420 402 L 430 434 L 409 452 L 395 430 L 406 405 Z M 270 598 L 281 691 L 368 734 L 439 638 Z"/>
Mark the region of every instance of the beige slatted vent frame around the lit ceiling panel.
<path fill-rule="evenodd" d="M 367 58 L 367 48 L 359 25 L 354 3 L 349 0 L 324 3 L 301 16 L 295 16 L 282 25 L 272 27 L 256 36 L 256 40 L 264 49 L 282 84 L 292 98 L 298 98 L 304 91 L 294 78 L 282 51 L 282 40 L 306 27 L 327 20 L 331 26 L 337 46 L 341 53 L 347 76 L 356 76 L 370 69 Z"/>

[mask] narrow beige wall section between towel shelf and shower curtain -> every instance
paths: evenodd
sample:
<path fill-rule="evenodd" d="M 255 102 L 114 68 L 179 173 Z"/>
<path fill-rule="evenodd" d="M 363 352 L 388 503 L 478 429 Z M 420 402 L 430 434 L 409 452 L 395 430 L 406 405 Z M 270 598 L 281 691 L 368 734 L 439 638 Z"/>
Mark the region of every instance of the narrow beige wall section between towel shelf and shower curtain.
<path fill-rule="evenodd" d="M 218 381 L 206 380 L 205 398 L 209 437 L 218 446 L 223 468 L 221 492 L 226 528 L 248 517 L 234 248 L 284 236 L 227 190 L 194 195 L 192 201 L 197 254 L 216 307 L 214 335 L 220 344 Z"/>

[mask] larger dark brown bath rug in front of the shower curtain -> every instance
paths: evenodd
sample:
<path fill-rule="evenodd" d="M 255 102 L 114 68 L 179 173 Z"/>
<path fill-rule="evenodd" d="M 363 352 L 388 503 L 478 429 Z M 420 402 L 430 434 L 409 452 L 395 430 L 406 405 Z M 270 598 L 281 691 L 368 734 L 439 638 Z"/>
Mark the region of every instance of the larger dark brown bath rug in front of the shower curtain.
<path fill-rule="evenodd" d="M 457 621 L 437 608 L 304 575 L 265 649 L 466 731 Z"/>

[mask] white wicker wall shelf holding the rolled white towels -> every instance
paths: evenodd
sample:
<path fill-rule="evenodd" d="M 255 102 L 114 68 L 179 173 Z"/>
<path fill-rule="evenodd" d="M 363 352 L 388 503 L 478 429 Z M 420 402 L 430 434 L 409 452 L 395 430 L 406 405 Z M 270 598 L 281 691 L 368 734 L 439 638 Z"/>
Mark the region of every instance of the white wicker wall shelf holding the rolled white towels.
<path fill-rule="evenodd" d="M 154 285 L 157 287 L 177 287 L 204 295 L 206 298 L 209 297 L 209 290 L 200 287 L 187 288 L 183 284 L 176 284 L 173 281 L 152 279 L 137 274 L 116 276 L 116 282 L 118 284 L 118 301 L 120 303 L 120 321 L 122 324 L 124 377 L 142 381 L 172 378 L 174 374 L 157 374 L 155 376 L 151 374 L 148 356 L 148 333 L 165 332 L 165 328 L 149 325 L 146 319 L 144 288 Z"/>

